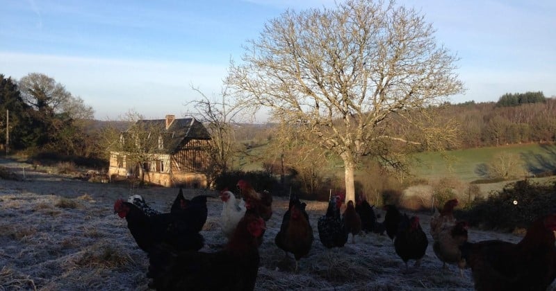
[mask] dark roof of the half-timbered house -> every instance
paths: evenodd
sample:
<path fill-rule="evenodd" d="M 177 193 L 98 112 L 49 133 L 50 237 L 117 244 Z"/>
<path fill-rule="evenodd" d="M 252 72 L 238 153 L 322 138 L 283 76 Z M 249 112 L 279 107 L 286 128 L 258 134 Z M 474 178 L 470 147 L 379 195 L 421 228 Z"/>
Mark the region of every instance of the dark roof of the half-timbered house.
<path fill-rule="evenodd" d="M 175 118 L 170 126 L 166 128 L 166 119 L 140 120 L 145 128 L 159 127 L 165 134 L 164 151 L 175 152 L 184 140 L 211 139 L 211 134 L 204 125 L 195 118 Z"/>

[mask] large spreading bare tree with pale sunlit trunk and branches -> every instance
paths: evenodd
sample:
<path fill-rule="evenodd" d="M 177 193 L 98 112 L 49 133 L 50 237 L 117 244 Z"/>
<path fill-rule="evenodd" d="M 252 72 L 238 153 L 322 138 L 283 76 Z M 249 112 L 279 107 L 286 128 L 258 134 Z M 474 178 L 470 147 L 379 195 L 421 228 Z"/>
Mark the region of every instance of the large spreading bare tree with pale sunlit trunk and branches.
<path fill-rule="evenodd" d="M 364 155 L 402 168 L 395 160 L 402 145 L 426 140 L 441 148 L 439 141 L 453 137 L 454 124 L 436 123 L 428 109 L 463 85 L 457 58 L 433 34 L 415 10 L 393 1 L 288 10 L 248 42 L 241 64 L 231 62 L 226 83 L 238 104 L 270 108 L 272 118 L 341 157 L 346 199 L 354 200 L 354 170 Z M 403 135 L 391 134 L 394 118 L 403 121 Z M 407 143 L 411 132 L 423 140 Z"/>

